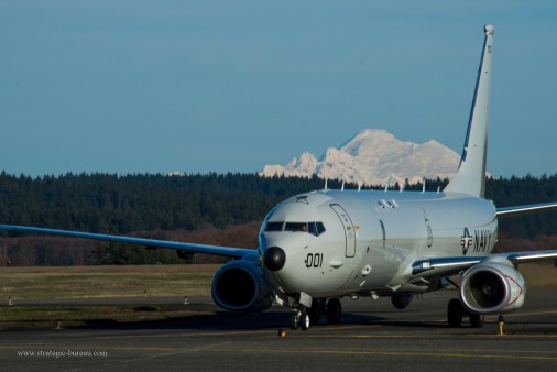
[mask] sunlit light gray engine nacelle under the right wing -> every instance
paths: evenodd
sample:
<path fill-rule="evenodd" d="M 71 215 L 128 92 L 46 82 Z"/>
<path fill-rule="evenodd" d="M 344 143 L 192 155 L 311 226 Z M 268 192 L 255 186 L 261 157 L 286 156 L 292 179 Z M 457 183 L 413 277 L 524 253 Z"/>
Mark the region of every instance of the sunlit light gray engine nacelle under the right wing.
<path fill-rule="evenodd" d="M 492 256 L 465 273 L 459 294 L 470 313 L 502 314 L 522 307 L 526 287 L 509 260 Z"/>

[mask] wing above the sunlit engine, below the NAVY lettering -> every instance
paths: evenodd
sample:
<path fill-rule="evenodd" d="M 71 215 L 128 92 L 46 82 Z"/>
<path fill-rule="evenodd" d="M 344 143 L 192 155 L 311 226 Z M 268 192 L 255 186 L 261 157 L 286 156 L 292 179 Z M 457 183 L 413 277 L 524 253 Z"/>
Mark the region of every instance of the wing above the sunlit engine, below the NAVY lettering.
<path fill-rule="evenodd" d="M 476 256 L 427 258 L 417 260 L 412 264 L 412 274 L 424 278 L 456 275 L 487 260 L 489 256 L 504 258 L 514 265 L 518 265 L 535 261 L 555 261 L 557 260 L 557 250 L 493 253 Z"/>

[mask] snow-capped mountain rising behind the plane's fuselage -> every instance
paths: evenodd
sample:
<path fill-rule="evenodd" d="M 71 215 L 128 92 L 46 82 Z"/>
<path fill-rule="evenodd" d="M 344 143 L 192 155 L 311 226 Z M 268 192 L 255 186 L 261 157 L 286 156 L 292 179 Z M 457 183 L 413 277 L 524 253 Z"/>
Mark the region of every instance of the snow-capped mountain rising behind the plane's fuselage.
<path fill-rule="evenodd" d="M 305 152 L 282 165 L 265 165 L 262 176 L 274 175 L 343 179 L 361 185 L 411 184 L 425 178 L 451 177 L 460 156 L 434 140 L 417 144 L 403 142 L 384 130 L 368 129 L 340 149 L 327 149 L 317 160 Z"/>

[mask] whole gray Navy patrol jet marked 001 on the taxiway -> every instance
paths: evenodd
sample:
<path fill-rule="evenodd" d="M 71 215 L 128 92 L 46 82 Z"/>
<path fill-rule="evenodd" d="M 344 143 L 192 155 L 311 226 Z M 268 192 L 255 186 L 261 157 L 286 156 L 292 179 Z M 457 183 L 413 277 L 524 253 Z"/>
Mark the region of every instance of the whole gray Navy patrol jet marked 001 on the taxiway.
<path fill-rule="evenodd" d="M 259 249 L 107 236 L 1 225 L 50 233 L 237 259 L 215 274 L 212 298 L 232 311 L 262 311 L 273 302 L 293 309 L 291 327 L 307 330 L 326 314 L 341 320 L 339 298 L 389 296 L 405 308 L 416 294 L 458 285 L 450 326 L 463 317 L 481 327 L 485 314 L 520 308 L 526 295 L 517 264 L 557 259 L 557 250 L 491 254 L 498 219 L 557 207 L 557 203 L 496 208 L 484 198 L 488 107 L 494 29 L 484 42 L 459 168 L 443 192 L 320 189 L 293 196 L 264 219 Z M 451 280 L 460 276 L 460 283 Z"/>

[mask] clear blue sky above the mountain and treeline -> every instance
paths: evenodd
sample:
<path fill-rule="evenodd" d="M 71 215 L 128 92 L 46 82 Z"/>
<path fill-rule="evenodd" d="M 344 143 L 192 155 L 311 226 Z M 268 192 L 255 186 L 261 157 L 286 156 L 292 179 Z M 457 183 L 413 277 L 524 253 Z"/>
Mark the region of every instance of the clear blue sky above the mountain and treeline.
<path fill-rule="evenodd" d="M 557 173 L 554 1 L 0 2 L 0 169 L 258 172 L 367 128 L 460 153 L 495 26 L 488 169 Z"/>

